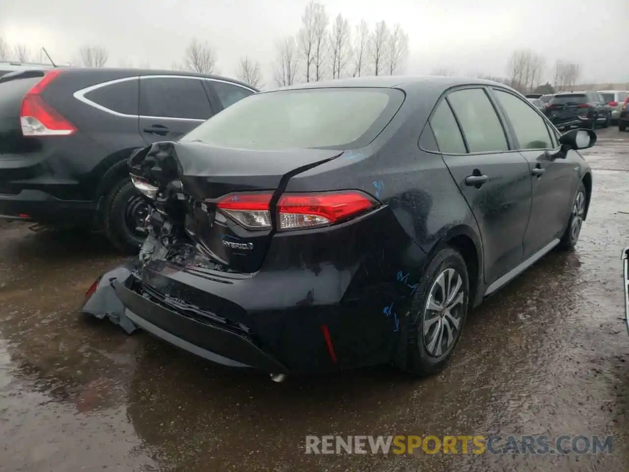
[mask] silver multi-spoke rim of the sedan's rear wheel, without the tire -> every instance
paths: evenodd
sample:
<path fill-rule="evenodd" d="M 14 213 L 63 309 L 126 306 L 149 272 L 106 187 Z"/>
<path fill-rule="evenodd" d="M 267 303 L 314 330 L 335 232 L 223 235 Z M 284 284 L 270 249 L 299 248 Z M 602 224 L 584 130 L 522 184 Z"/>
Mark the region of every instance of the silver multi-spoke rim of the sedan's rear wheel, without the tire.
<path fill-rule="evenodd" d="M 433 357 L 447 354 L 459 335 L 467 293 L 455 269 L 445 269 L 430 289 L 423 313 L 426 352 Z"/>

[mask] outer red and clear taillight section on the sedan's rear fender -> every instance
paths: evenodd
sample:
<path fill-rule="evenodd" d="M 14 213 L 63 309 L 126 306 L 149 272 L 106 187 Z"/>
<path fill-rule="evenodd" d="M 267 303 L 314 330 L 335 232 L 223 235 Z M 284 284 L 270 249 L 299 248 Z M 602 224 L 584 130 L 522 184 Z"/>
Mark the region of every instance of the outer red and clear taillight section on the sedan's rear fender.
<path fill-rule="evenodd" d="M 360 191 L 290 194 L 277 202 L 279 229 L 291 230 L 340 223 L 376 206 Z"/>

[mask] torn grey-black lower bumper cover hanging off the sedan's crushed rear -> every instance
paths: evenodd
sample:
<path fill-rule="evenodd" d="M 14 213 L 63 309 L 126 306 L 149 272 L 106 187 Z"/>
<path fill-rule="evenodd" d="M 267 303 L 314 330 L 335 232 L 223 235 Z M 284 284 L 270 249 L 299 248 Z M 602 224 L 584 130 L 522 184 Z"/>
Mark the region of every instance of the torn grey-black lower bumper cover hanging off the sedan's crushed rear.
<path fill-rule="evenodd" d="M 140 293 L 136 275 L 136 271 L 142 270 L 140 267 L 139 261 L 130 261 L 104 274 L 81 312 L 100 319 L 108 318 L 128 334 L 137 329 L 146 330 L 218 364 L 272 373 L 288 372 L 286 366 L 262 351 L 246 335 L 215 325 L 208 318 L 168 306 L 150 292 Z"/>

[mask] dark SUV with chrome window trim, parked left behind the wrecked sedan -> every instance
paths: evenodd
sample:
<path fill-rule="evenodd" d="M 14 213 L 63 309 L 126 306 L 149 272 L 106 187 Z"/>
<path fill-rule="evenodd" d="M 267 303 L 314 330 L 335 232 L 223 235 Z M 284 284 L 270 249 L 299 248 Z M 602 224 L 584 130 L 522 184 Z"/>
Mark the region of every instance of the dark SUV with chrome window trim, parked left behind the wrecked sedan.
<path fill-rule="evenodd" d="M 122 250 L 145 239 L 133 150 L 177 140 L 257 92 L 189 72 L 31 69 L 0 77 L 0 218 L 102 229 Z"/>

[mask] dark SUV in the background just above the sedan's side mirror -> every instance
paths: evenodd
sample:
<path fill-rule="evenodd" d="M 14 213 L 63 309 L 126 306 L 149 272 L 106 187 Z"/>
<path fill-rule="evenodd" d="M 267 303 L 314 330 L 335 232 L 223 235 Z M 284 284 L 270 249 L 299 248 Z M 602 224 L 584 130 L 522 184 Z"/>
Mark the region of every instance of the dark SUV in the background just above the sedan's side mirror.
<path fill-rule="evenodd" d="M 607 128 L 611 121 L 611 108 L 601 94 L 594 91 L 558 93 L 550 99 L 546 116 L 558 128 L 583 126 Z"/>

